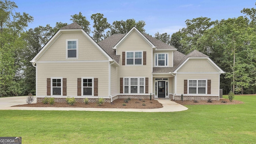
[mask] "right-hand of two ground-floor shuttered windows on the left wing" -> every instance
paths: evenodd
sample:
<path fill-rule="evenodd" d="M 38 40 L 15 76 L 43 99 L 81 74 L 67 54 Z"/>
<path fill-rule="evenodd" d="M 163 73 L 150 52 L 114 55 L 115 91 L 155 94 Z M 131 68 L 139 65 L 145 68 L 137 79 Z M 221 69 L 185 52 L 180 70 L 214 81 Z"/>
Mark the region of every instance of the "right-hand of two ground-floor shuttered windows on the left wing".
<path fill-rule="evenodd" d="M 94 78 L 83 77 L 82 78 L 82 95 L 93 96 L 94 95 Z"/>

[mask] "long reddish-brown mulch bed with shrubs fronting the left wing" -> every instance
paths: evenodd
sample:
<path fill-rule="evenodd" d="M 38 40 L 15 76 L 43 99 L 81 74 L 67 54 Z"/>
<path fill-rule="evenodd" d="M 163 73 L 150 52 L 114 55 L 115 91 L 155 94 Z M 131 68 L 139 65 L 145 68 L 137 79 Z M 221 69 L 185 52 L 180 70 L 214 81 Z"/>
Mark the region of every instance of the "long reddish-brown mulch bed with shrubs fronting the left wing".
<path fill-rule="evenodd" d="M 78 103 L 76 102 L 74 106 L 70 106 L 67 103 L 59 103 L 55 102 L 53 105 L 50 104 L 43 104 L 43 103 L 36 103 L 36 104 L 22 104 L 16 105 L 15 107 L 72 107 L 72 108 L 162 108 L 162 104 L 159 103 L 157 100 L 149 100 L 149 99 L 131 99 L 128 103 L 124 102 L 125 99 L 117 99 L 114 100 L 113 103 L 104 103 L 101 106 L 98 106 L 95 102 L 89 102 L 88 104 L 85 103 Z M 126 104 L 126 106 L 123 106 Z M 144 106 L 142 105 L 144 104 Z"/>

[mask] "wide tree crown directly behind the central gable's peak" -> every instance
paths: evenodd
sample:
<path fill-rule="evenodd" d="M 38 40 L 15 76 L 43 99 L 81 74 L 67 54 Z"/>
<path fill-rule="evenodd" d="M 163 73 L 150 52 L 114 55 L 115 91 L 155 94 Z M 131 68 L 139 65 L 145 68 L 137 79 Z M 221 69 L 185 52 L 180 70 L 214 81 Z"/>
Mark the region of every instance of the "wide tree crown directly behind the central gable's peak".
<path fill-rule="evenodd" d="M 143 20 L 139 20 L 136 22 L 134 19 L 127 19 L 126 21 L 114 21 L 112 26 L 110 26 L 110 31 L 107 32 L 107 35 L 113 35 L 113 34 L 126 34 L 129 32 L 132 27 L 136 27 L 140 32 L 145 33 L 144 26 L 146 23 Z"/>

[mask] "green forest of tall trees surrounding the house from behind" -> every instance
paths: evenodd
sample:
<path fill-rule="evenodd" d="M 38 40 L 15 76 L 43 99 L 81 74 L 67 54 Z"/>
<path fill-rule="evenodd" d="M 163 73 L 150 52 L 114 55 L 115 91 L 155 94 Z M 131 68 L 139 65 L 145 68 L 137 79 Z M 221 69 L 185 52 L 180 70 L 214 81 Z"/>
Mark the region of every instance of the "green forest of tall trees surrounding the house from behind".
<path fill-rule="evenodd" d="M 18 6 L 9 0 L 0 0 L 0 97 L 36 93 L 36 68 L 29 62 L 42 46 L 67 23 L 38 26 L 27 30 L 33 17 L 15 12 Z M 100 42 L 112 34 L 127 33 L 133 26 L 146 33 L 143 20 L 116 20 L 107 22 L 104 14 L 96 13 L 90 22 L 81 12 L 71 15 L 92 38 Z M 244 8 L 241 16 L 211 21 L 199 17 L 186 20 L 186 28 L 170 36 L 156 32 L 155 38 L 172 45 L 183 54 L 198 50 L 208 55 L 226 73 L 220 75 L 224 94 L 256 93 L 256 9 Z"/>

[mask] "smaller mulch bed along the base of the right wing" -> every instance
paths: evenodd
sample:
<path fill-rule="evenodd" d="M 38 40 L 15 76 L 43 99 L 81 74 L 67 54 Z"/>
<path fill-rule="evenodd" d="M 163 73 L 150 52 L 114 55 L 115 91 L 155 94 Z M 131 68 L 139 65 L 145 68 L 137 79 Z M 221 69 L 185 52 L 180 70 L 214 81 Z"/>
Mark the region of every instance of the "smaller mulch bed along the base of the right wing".
<path fill-rule="evenodd" d="M 243 104 L 244 102 L 241 102 L 239 100 L 230 100 L 226 98 L 221 98 L 220 100 L 212 100 L 212 102 L 207 102 L 207 100 L 198 100 L 198 102 L 194 102 L 194 100 L 173 100 L 174 102 L 177 102 L 181 105 L 198 105 L 198 104 Z M 224 103 L 225 102 L 225 103 Z"/>

